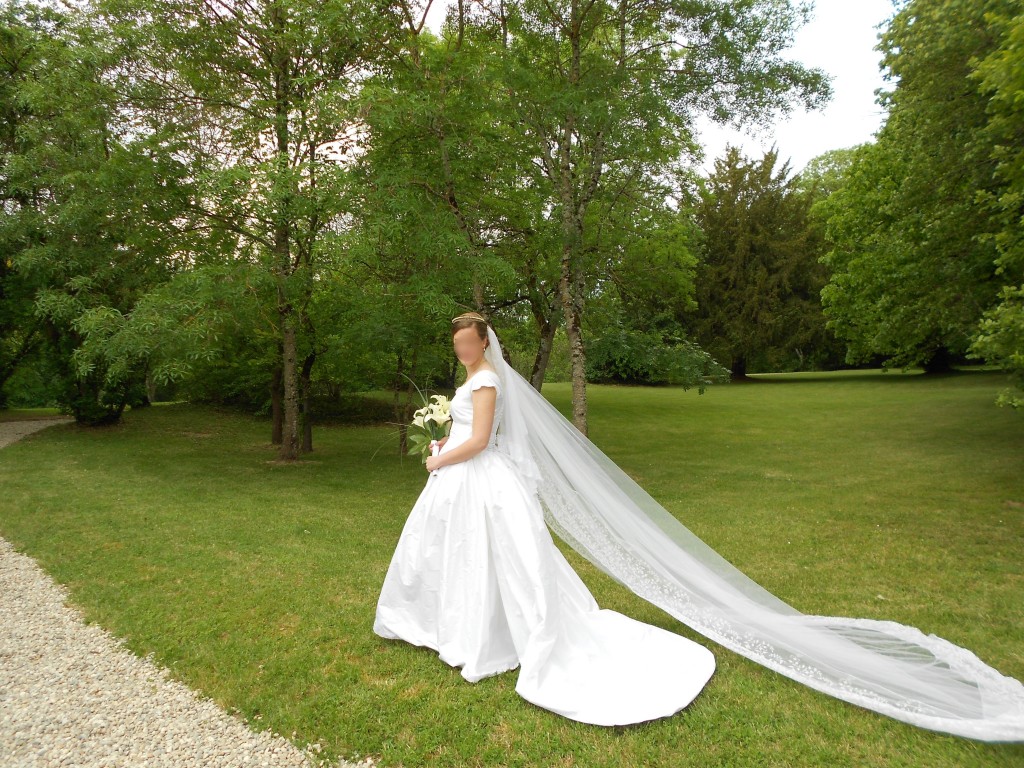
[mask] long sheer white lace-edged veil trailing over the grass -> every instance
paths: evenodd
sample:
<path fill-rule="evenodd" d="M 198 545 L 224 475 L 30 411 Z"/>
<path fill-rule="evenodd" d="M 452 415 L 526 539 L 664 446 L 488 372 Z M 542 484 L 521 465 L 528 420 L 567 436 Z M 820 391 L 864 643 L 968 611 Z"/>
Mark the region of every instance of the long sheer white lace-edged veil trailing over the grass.
<path fill-rule="evenodd" d="M 801 613 L 673 517 L 502 356 L 497 447 L 548 525 L 634 593 L 736 653 L 868 710 L 984 741 L 1024 740 L 1024 685 L 977 655 L 895 622 Z"/>

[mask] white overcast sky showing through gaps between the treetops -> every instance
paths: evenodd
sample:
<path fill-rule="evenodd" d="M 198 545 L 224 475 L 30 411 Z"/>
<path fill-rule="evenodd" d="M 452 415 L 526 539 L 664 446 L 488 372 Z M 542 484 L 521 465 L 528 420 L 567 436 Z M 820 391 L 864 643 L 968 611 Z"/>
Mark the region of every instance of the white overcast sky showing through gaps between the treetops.
<path fill-rule="evenodd" d="M 833 78 L 831 101 L 816 112 L 794 112 L 774 129 L 750 135 L 709 123 L 699 125 L 711 169 L 727 143 L 738 144 L 749 157 L 761 157 L 772 143 L 793 171 L 828 150 L 867 141 L 882 124 L 874 91 L 884 85 L 879 70 L 878 26 L 893 13 L 892 0 L 816 0 L 814 17 L 797 32 L 792 58 L 824 70 Z M 438 29 L 445 0 L 434 0 L 428 25 Z"/>

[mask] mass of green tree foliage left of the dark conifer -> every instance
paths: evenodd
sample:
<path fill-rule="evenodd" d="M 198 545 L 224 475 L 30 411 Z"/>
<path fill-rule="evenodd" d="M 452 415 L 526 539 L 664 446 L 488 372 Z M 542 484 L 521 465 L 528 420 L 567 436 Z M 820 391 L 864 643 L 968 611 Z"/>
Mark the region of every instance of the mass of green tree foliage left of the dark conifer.
<path fill-rule="evenodd" d="M 827 93 L 788 0 L 462 5 L 440 37 L 413 4 L 247 7 L 4 9 L 0 383 L 45 370 L 82 421 L 157 386 L 260 410 L 290 352 L 313 402 L 450 385 L 447 318 L 486 309 L 528 368 L 563 267 L 593 334 L 682 348 L 693 118 Z"/>

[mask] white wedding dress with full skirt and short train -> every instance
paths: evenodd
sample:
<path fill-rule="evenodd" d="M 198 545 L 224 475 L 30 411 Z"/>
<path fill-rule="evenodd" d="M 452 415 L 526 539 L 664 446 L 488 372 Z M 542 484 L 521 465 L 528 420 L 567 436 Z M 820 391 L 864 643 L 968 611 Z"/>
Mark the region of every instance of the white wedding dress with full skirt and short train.
<path fill-rule="evenodd" d="M 471 682 L 519 667 L 523 698 L 585 723 L 637 723 L 685 708 L 715 656 L 598 607 L 496 442 L 505 398 L 495 372 L 478 371 L 456 390 L 441 453 L 470 437 L 479 387 L 497 389 L 487 447 L 429 475 L 388 567 L 374 631 L 433 648 Z"/>

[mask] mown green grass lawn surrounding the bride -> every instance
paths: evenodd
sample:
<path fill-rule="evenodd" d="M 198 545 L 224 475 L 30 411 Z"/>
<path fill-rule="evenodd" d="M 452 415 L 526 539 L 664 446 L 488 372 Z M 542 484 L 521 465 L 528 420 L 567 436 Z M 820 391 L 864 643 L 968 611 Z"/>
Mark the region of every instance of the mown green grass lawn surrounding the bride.
<path fill-rule="evenodd" d="M 885 618 L 1024 680 L 1024 418 L 997 374 L 760 377 L 703 395 L 591 386 L 591 438 L 691 530 L 808 613 Z M 545 394 L 569 412 L 565 384 Z M 677 715 L 602 728 L 372 631 L 426 480 L 388 427 L 269 425 L 190 406 L 58 425 L 0 452 L 0 535 L 88 621 L 256 728 L 385 766 L 1022 766 L 1024 744 L 905 725 L 689 630 L 574 553 L 602 607 L 714 651 Z M 378 449 L 380 449 L 378 451 Z M 376 456 L 374 456 L 374 453 Z"/>

